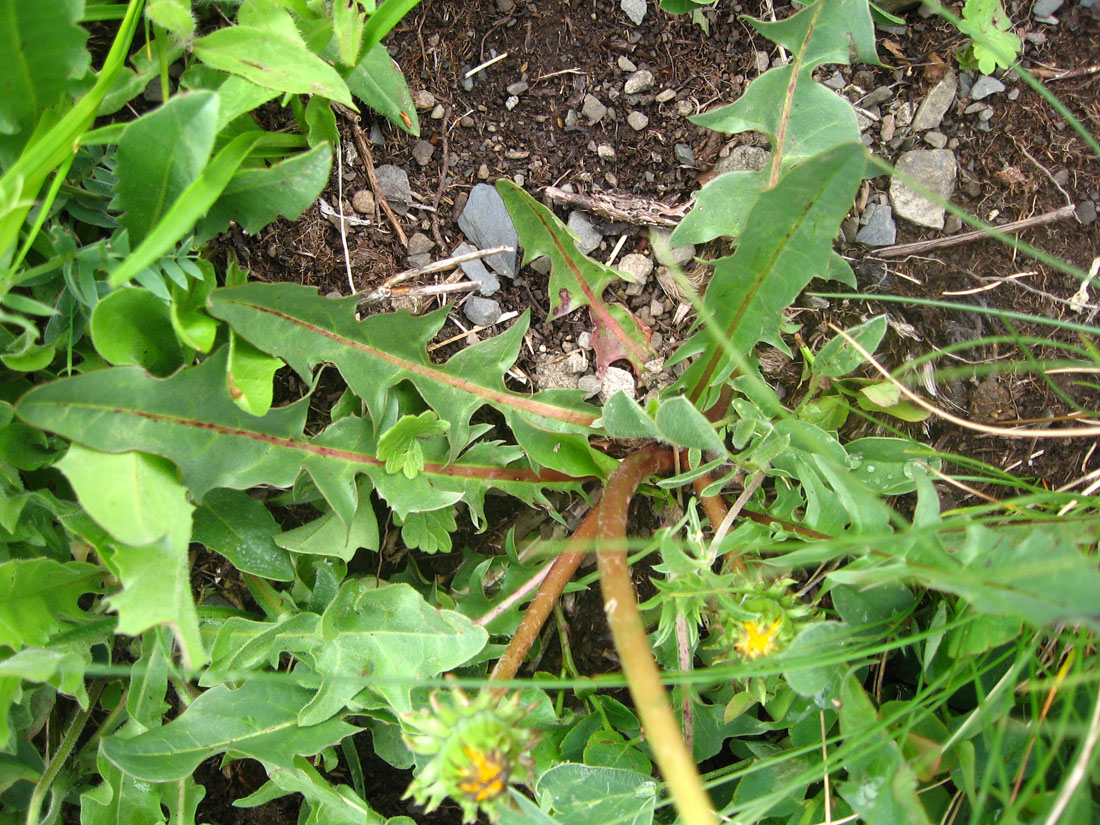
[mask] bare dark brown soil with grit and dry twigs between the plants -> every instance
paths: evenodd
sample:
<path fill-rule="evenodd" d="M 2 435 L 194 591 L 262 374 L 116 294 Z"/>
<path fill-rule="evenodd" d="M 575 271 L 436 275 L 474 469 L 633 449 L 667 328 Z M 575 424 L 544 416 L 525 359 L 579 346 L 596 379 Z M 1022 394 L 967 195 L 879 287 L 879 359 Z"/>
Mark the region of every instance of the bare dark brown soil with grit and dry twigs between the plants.
<path fill-rule="evenodd" d="M 1058 25 L 1038 24 L 1030 16 L 1030 3 L 1010 2 L 1009 14 L 1020 28 L 1045 35 L 1045 42 L 1026 43 L 1024 65 L 1027 67 L 1078 68 L 1100 64 L 1100 3 L 1091 9 L 1074 0 L 1059 10 Z M 760 8 L 758 8 L 758 6 Z M 413 156 L 416 139 L 386 122 L 381 127 L 382 142 L 372 146 L 376 165 L 396 164 L 410 177 L 417 205 L 402 219 L 407 235 L 422 232 L 432 239 L 435 257 L 446 257 L 462 239 L 455 223 L 473 185 L 481 179 L 492 183 L 507 177 L 521 184 L 536 196 L 548 185 L 572 184 L 580 191 L 614 191 L 676 206 L 688 201 L 698 189 L 700 180 L 729 144 L 750 142 L 740 136 L 727 141 L 723 135 L 693 125 L 688 116 L 735 100 L 747 82 L 759 74 L 757 53 L 768 61 L 778 56 L 738 14 L 765 15 L 762 3 L 749 0 L 732 4 L 719 0 L 716 10 L 708 10 L 711 33 L 693 25 L 689 18 L 670 16 L 650 3 L 646 22 L 632 26 L 610 0 L 574 0 L 573 2 L 536 3 L 520 0 L 480 0 L 454 3 L 444 0 L 424 3 L 395 31 L 388 43 L 394 58 L 403 68 L 414 91 L 426 90 L 442 108 L 440 118 L 432 117 L 433 106 L 419 112 L 421 140 L 433 151 L 421 165 Z M 787 7 L 776 13 L 785 16 Z M 942 76 L 944 64 L 952 65 L 953 50 L 965 45 L 952 28 L 936 19 L 923 19 L 909 13 L 904 31 L 882 32 L 892 45 L 880 45 L 882 67 L 840 67 L 843 92 L 854 100 L 880 87 L 889 87 L 890 101 L 878 108 L 878 114 L 889 111 L 891 101 L 916 105 Z M 1035 37 L 1041 40 L 1041 37 Z M 462 86 L 463 75 L 471 67 L 502 54 L 507 56 L 476 75 L 472 89 Z M 638 68 L 647 68 L 656 86 L 634 100 L 623 94 L 629 72 L 620 68 L 626 58 Z M 836 67 L 825 67 L 822 79 Z M 506 87 L 524 80 L 527 91 L 519 95 L 510 111 L 505 102 Z M 1007 92 L 987 98 L 993 114 L 988 131 L 981 128 L 977 114 L 964 112 L 968 100 L 957 101 L 948 111 L 939 131 L 948 139 L 959 164 L 959 180 L 954 200 L 968 212 L 993 223 L 1014 221 L 1042 215 L 1068 204 L 1093 207 L 1100 201 L 1100 165 L 1090 156 L 1084 141 L 1035 92 L 1020 81 L 1004 78 L 1009 90 L 1019 96 L 1009 99 Z M 1097 94 L 1100 74 L 1049 81 L 1050 88 L 1085 124 L 1100 132 L 1100 96 Z M 662 90 L 672 90 L 674 98 L 666 102 L 654 99 Z M 579 125 L 568 125 L 570 110 L 580 111 L 585 95 L 595 95 L 610 111 L 598 123 L 588 124 L 581 118 Z M 644 112 L 648 125 L 635 131 L 626 117 L 631 110 Z M 437 111 L 437 114 L 440 113 Z M 267 113 L 273 124 L 286 116 Z M 367 116 L 369 117 L 369 116 Z M 364 119 L 364 131 L 372 122 Z M 345 146 L 353 145 L 350 124 L 342 125 Z M 889 161 L 902 151 L 921 147 L 920 136 L 883 134 L 875 122 L 866 132 L 871 148 Z M 694 163 L 682 163 L 675 145 L 692 150 Z M 610 146 L 614 157 L 602 157 L 601 145 Z M 424 148 L 424 147 L 421 147 Z M 605 153 L 606 154 L 606 153 Z M 683 153 L 681 153 L 683 154 Z M 370 188 L 362 158 L 344 164 L 342 182 L 344 210 L 352 213 L 352 198 L 358 190 Z M 441 173 L 447 177 L 441 182 Z M 338 202 L 336 169 L 324 198 Z M 865 184 L 855 215 L 889 188 L 888 178 Z M 564 212 L 559 212 L 564 218 Z M 1082 210 L 1088 216 L 1088 209 Z M 1094 216 L 1094 209 L 1092 211 Z M 349 256 L 356 290 L 366 290 L 395 273 L 408 268 L 406 250 L 397 233 L 381 213 L 371 218 L 370 227 L 355 228 L 348 234 Z M 597 226 L 600 224 L 596 219 Z M 1069 218 L 1062 222 L 1026 231 L 1022 238 L 1074 266 L 1088 271 L 1100 254 L 1100 222 L 1081 222 Z M 648 230 L 629 224 L 603 224 L 606 237 L 594 256 L 606 261 L 619 235 L 626 235 L 619 256 L 628 252 L 648 251 Z M 967 229 L 967 228 L 961 228 Z M 932 239 L 958 232 L 958 227 L 944 232 L 922 229 L 898 220 L 898 242 Z M 271 280 L 289 280 L 318 287 L 322 293 L 349 294 L 348 275 L 339 232 L 317 207 L 299 220 L 279 221 L 257 238 L 234 229 L 224 240 L 254 276 Z M 990 316 L 916 306 L 910 301 L 883 302 L 877 296 L 902 299 L 928 298 L 969 302 L 990 310 L 1011 310 L 1050 318 L 1087 321 L 1088 311 L 1077 312 L 1068 304 L 1078 282 L 1048 266 L 1013 252 L 993 241 L 982 240 L 920 255 L 887 258 L 856 243 L 838 248 L 848 257 L 859 278 L 860 299 L 805 296 L 794 317 L 802 324 L 801 338 L 817 349 L 827 338 L 829 323 L 850 326 L 872 315 L 887 311 L 891 330 L 880 349 L 887 366 L 897 366 L 934 349 L 968 341 L 981 336 L 1009 334 L 1012 330 Z M 1020 272 L 1033 274 L 1012 280 L 997 282 Z M 564 358 L 578 348 L 578 338 L 588 329 L 582 314 L 563 321 L 546 324 L 548 299 L 546 276 L 525 268 L 519 277 L 503 285 L 495 296 L 505 310 L 521 311 L 531 307 L 531 330 L 518 367 L 526 378 L 526 388 L 538 387 L 537 363 Z M 958 295 L 960 290 L 989 287 L 985 292 Z M 823 293 L 843 292 L 835 284 L 815 282 L 813 288 Z M 612 289 L 615 292 L 615 288 Z M 954 294 L 953 294 L 954 293 Z M 691 318 L 674 319 L 675 302 L 654 279 L 638 295 L 619 290 L 618 299 L 628 304 L 659 333 L 660 353 L 668 356 L 688 334 Z M 1094 298 L 1093 298 L 1094 300 Z M 435 305 L 432 305 L 435 306 Z M 461 311 L 440 332 L 440 341 L 455 339 L 438 354 L 446 355 L 465 345 L 471 324 Z M 1048 327 L 1018 323 L 1015 332 L 1047 340 L 1076 342 L 1070 333 L 1052 332 Z M 492 334 L 487 330 L 482 334 Z M 1054 358 L 1050 346 L 1036 348 L 1036 359 Z M 1088 384 L 1075 383 L 1070 375 L 1048 378 L 1026 374 L 1002 364 L 1019 364 L 1021 351 L 1010 343 L 980 345 L 942 358 L 936 369 L 953 369 L 935 380 L 936 400 L 952 413 L 987 425 L 1001 427 L 1013 422 L 1064 416 L 1072 411 L 1052 386 L 1056 383 L 1066 396 L 1087 409 L 1098 409 L 1097 391 Z M 591 359 L 590 359 L 591 362 Z M 789 400 L 796 400 L 805 387 L 800 386 L 801 364 L 780 366 L 770 376 L 781 386 Z M 870 373 L 868 373 L 870 375 Z M 651 376 L 651 389 L 668 382 L 668 374 Z M 520 385 L 516 385 L 520 388 Z M 338 389 L 332 391 L 336 397 Z M 1055 422 L 1052 426 L 1064 426 Z M 853 420 L 853 436 L 869 435 L 871 426 Z M 1034 441 L 1005 439 L 974 432 L 941 419 L 928 419 L 910 428 L 925 443 L 945 452 L 957 453 L 988 462 L 1002 470 L 1034 480 L 1047 487 L 1057 487 L 1097 466 L 1094 441 Z M 1005 495 L 1005 491 L 981 492 Z M 974 499 L 961 491 L 955 492 L 959 504 Z M 498 524 L 507 524 L 505 516 Z M 465 537 L 482 541 L 485 537 Z M 497 537 L 498 538 L 498 537 Z M 392 543 L 392 542 L 391 542 Z M 399 544 L 399 541 L 397 542 Z M 392 560 L 392 557 L 391 557 Z M 386 560 L 383 560 L 385 562 Z M 459 560 L 449 563 L 433 559 L 431 574 L 446 579 Z M 598 596 L 576 602 L 572 644 L 582 670 L 607 671 L 616 668 L 613 646 L 607 639 Z M 557 640 L 548 635 L 547 657 L 554 652 Z M 551 640 L 552 639 L 552 640 Z M 543 662 L 546 667 L 546 662 Z M 364 735 L 365 738 L 365 735 Z M 364 760 L 370 754 L 369 738 L 362 748 Z M 367 776 L 385 777 L 370 801 L 380 812 L 393 816 L 408 813 L 407 803 L 399 800 L 408 774 L 394 771 L 377 762 L 364 765 Z M 260 771 L 262 774 L 262 771 Z M 283 825 L 297 821 L 297 806 L 283 800 L 251 811 L 233 809 L 229 803 L 251 793 L 257 780 L 248 769 L 218 771 L 205 766 L 201 779 L 208 793 L 200 813 L 209 822 L 264 822 Z M 200 820 L 202 818 L 200 816 Z M 257 818 L 258 817 L 258 818 Z M 443 810 L 430 822 L 459 822 L 455 810 Z M 418 822 L 429 822 L 419 818 Z"/>

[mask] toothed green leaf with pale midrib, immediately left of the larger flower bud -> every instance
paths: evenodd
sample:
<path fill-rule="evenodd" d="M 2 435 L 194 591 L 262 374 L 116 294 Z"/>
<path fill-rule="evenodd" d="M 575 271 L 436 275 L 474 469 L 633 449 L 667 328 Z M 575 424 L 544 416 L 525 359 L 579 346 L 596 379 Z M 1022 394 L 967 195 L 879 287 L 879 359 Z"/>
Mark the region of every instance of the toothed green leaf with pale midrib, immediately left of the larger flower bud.
<path fill-rule="evenodd" d="M 289 769 L 294 757 L 312 756 L 358 730 L 340 719 L 299 726 L 309 693 L 287 680 L 249 680 L 237 690 L 218 685 L 164 727 L 132 739 L 107 737 L 102 752 L 131 777 L 151 782 L 189 777 L 204 759 L 222 752 Z"/>

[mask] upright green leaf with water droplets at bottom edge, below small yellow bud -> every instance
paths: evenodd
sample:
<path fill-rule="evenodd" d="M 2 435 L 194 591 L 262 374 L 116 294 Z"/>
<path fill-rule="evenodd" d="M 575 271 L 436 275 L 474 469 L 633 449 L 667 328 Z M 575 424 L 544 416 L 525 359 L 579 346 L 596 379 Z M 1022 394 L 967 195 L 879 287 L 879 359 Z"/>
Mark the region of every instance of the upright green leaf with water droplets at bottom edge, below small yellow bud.
<path fill-rule="evenodd" d="M 928 825 L 916 795 L 916 774 L 878 727 L 879 715 L 854 673 L 840 682 L 840 733 L 856 747 L 844 762 L 840 796 L 868 825 Z"/>

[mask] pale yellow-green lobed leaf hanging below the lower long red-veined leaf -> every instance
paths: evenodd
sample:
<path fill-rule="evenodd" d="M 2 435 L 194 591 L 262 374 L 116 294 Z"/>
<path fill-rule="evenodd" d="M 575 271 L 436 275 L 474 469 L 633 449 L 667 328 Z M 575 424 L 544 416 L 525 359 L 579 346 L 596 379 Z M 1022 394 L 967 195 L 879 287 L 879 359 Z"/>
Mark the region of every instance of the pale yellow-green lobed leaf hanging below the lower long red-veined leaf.
<path fill-rule="evenodd" d="M 156 455 L 107 453 L 73 444 L 57 462 L 81 506 L 120 543 L 100 548 L 122 581 L 110 597 L 119 632 L 170 627 L 187 668 L 207 660 L 191 596 L 191 512 L 176 468 Z"/>

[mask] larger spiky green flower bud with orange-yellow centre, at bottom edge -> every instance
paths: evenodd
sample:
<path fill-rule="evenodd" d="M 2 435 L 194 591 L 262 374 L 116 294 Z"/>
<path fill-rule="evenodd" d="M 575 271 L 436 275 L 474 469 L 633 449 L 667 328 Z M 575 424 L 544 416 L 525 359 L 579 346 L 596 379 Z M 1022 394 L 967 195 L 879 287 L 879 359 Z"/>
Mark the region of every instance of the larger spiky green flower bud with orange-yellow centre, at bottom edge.
<path fill-rule="evenodd" d="M 430 710 L 403 717 L 409 749 L 427 757 L 405 798 L 430 812 L 450 796 L 463 822 L 474 822 L 479 809 L 495 821 L 508 784 L 532 777 L 529 751 L 537 735 L 521 724 L 529 708 L 519 706 L 518 694 L 498 701 L 490 691 L 471 700 L 455 688 L 450 700 L 432 694 Z"/>

